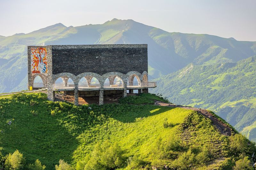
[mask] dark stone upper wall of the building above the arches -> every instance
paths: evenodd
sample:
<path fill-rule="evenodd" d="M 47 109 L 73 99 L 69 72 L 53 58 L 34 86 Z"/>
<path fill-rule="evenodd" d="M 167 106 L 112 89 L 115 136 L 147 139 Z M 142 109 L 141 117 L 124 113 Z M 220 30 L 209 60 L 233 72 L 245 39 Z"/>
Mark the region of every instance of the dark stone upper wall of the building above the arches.
<path fill-rule="evenodd" d="M 147 44 L 52 46 L 52 74 L 148 70 Z"/>

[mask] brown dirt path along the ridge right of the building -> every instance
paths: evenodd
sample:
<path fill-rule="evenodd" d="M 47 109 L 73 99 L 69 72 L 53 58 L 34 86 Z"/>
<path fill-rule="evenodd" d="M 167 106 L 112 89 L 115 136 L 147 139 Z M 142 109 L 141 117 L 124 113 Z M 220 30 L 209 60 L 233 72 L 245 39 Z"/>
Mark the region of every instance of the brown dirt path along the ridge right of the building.
<path fill-rule="evenodd" d="M 207 117 L 208 119 L 210 119 L 212 121 L 212 124 L 215 125 L 215 127 L 220 131 L 220 133 L 222 135 L 231 136 L 231 134 L 235 132 L 233 129 L 228 127 L 225 123 L 221 122 L 216 117 L 214 117 L 214 115 L 212 115 L 212 113 L 208 112 L 206 109 L 174 105 L 174 104 L 164 103 L 164 102 L 158 101 L 158 100 L 156 100 L 155 104 L 158 106 L 181 107 L 181 108 L 185 108 L 185 109 L 189 109 L 189 110 L 195 110 L 197 113 L 200 113 L 200 114 L 204 115 L 204 117 Z"/>

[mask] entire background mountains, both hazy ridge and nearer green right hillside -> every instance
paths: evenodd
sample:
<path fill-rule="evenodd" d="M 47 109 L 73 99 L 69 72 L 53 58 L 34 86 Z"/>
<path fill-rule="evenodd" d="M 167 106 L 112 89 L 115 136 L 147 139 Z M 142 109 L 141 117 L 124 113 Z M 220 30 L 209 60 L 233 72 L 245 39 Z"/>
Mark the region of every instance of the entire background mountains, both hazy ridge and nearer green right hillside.
<path fill-rule="evenodd" d="M 0 92 L 27 89 L 27 46 L 148 44 L 149 78 L 171 102 L 214 110 L 254 140 L 256 42 L 169 33 L 131 19 L 0 36 Z M 248 126 L 249 130 L 248 130 Z M 251 132 L 251 133 L 250 133 Z"/>

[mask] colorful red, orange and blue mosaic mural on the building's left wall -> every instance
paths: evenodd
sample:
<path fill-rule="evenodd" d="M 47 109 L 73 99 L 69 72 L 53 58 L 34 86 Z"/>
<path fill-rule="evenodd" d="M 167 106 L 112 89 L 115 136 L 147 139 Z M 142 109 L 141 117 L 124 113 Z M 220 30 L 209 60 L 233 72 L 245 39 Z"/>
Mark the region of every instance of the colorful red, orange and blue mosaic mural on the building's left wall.
<path fill-rule="evenodd" d="M 31 48 L 31 71 L 32 73 L 47 73 L 46 48 Z"/>

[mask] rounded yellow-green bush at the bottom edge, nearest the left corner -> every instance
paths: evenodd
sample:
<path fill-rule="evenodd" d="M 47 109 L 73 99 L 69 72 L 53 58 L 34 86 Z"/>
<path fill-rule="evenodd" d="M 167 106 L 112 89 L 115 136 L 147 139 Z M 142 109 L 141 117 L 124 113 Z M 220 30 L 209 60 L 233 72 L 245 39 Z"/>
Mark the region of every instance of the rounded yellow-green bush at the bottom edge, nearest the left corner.
<path fill-rule="evenodd" d="M 13 154 L 9 153 L 6 157 L 4 166 L 6 170 L 15 170 L 15 169 L 23 169 L 25 165 L 25 158 L 23 154 L 18 150 L 13 152 Z"/>

